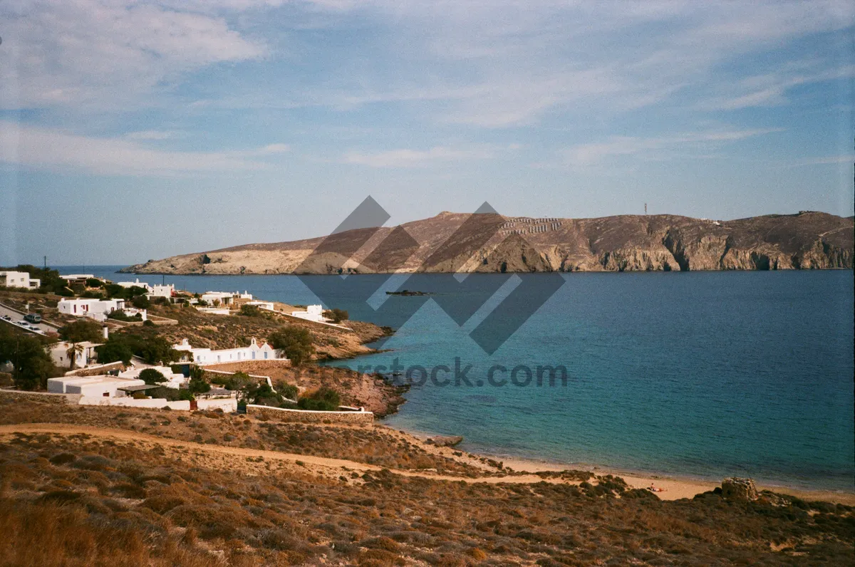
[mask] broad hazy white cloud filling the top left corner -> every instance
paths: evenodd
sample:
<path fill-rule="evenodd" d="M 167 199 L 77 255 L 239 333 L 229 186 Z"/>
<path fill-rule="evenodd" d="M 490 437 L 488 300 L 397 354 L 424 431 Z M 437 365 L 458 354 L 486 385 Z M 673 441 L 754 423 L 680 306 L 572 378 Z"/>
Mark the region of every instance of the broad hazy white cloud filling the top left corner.
<path fill-rule="evenodd" d="M 122 0 L 0 5 L 0 108 L 128 109 L 182 75 L 265 55 L 213 15 Z"/>

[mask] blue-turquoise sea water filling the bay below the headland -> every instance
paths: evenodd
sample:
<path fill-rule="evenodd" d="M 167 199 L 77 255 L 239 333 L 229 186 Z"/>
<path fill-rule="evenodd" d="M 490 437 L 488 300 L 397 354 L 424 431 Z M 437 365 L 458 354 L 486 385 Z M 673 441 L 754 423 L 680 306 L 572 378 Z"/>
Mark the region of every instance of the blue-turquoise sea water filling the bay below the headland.
<path fill-rule="evenodd" d="M 70 270 L 70 269 L 69 269 Z M 89 273 L 123 279 L 112 269 Z M 469 334 L 516 281 L 469 275 L 451 290 L 447 276 L 423 276 L 417 289 L 439 295 L 387 298 L 387 276 L 351 276 L 350 286 L 328 282 L 329 307 L 387 324 L 390 312 L 420 308 L 383 345 L 389 352 L 360 357 L 354 369 L 395 359 L 428 373 L 451 369 L 451 384 L 413 387 L 387 422 L 396 428 L 461 434 L 465 448 L 620 470 L 721 479 L 747 475 L 795 487 L 855 490 L 853 434 L 853 277 L 850 271 L 573 274 L 498 350 L 487 354 Z M 533 277 L 533 276 L 528 276 Z M 534 276 L 538 277 L 538 276 Z M 474 278 L 474 279 L 473 279 Z M 160 276 L 141 278 L 151 283 Z M 405 276 L 394 276 L 389 289 Z M 168 276 L 194 292 L 247 289 L 291 304 L 316 302 L 294 276 Z M 403 283 L 403 287 L 416 288 Z M 458 327 L 438 305 L 481 304 Z M 481 290 L 481 292 L 479 291 Z M 338 301 L 336 300 L 338 299 Z M 374 308 L 386 300 L 385 308 Z M 454 312 L 453 307 L 451 308 Z M 381 315 L 378 315 L 380 313 Z M 494 325 L 491 325 L 493 327 Z M 483 330 L 483 327 L 482 327 Z M 456 358 L 471 365 L 454 385 Z M 491 386 L 494 365 L 513 369 L 563 365 L 566 387 L 516 386 L 510 375 Z M 419 380 L 421 370 L 411 375 Z M 438 371 L 438 380 L 445 378 Z M 523 382 L 526 372 L 517 372 Z M 477 381 L 483 382 L 482 386 Z"/>

